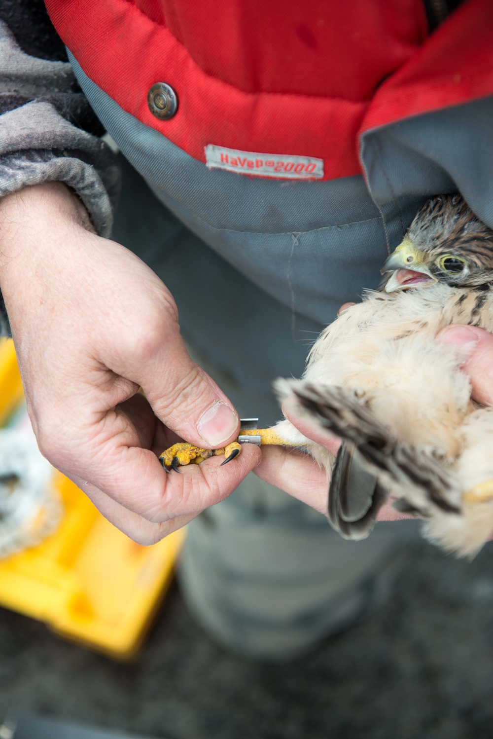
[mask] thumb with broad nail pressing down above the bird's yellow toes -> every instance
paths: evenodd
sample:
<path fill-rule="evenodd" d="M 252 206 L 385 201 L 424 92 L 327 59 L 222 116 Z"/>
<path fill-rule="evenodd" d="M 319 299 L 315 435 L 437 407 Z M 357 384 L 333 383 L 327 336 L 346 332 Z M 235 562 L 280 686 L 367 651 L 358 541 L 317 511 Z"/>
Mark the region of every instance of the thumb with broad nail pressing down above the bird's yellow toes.
<path fill-rule="evenodd" d="M 240 420 L 218 385 L 190 358 L 179 332 L 166 336 L 139 368 L 156 416 L 196 446 L 220 447 L 238 436 Z"/>

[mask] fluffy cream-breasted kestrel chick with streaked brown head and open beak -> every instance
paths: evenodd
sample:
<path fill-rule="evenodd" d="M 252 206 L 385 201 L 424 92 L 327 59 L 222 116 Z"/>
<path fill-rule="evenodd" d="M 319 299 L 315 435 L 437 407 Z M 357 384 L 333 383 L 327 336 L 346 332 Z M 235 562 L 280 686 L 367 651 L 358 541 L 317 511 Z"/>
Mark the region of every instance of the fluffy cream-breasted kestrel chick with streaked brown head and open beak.
<path fill-rule="evenodd" d="M 493 331 L 493 231 L 459 195 L 421 208 L 368 291 L 314 344 L 301 381 L 280 381 L 344 442 L 337 459 L 276 426 L 331 472 L 328 514 L 348 539 L 368 536 L 389 496 L 424 535 L 473 555 L 493 534 L 493 409 L 470 397 L 448 324 Z"/>

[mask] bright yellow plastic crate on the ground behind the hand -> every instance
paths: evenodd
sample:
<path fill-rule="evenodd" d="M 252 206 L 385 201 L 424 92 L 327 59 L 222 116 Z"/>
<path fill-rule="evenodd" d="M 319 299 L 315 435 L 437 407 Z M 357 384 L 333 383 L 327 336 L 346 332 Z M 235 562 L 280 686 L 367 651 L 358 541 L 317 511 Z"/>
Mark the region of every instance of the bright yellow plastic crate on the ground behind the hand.
<path fill-rule="evenodd" d="M 0 340 L 0 425 L 24 399 L 13 342 Z M 185 537 L 143 547 L 118 531 L 61 473 L 63 520 L 40 545 L 0 559 L 0 605 L 111 657 L 136 655 L 170 585 Z"/>

